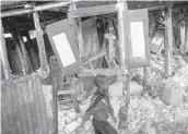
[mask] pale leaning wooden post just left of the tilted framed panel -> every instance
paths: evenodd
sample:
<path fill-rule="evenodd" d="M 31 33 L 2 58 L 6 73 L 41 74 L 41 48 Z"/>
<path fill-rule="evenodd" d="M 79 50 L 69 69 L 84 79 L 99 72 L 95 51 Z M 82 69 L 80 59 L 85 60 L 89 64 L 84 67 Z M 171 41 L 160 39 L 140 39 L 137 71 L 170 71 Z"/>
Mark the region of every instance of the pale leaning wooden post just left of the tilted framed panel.
<path fill-rule="evenodd" d="M 42 70 L 42 74 L 46 76 L 46 74 L 49 74 L 49 66 L 48 66 L 47 57 L 46 57 L 43 29 L 39 24 L 39 16 L 37 12 L 33 13 L 33 20 L 34 20 L 35 29 L 36 29 L 36 40 L 37 40 L 38 51 L 39 51 L 40 70 Z"/>

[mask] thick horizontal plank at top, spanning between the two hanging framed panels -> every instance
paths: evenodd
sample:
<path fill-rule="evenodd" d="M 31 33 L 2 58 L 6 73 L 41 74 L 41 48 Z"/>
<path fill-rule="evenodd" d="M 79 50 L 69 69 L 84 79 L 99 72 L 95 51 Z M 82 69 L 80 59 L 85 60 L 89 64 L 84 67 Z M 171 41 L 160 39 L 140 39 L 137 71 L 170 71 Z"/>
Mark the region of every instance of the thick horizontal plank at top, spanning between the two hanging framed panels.
<path fill-rule="evenodd" d="M 73 15 L 73 17 L 84 17 L 84 16 L 114 13 L 117 11 L 118 11 L 117 4 L 107 4 L 107 5 L 80 8 L 77 10 L 70 10 L 69 12 Z"/>

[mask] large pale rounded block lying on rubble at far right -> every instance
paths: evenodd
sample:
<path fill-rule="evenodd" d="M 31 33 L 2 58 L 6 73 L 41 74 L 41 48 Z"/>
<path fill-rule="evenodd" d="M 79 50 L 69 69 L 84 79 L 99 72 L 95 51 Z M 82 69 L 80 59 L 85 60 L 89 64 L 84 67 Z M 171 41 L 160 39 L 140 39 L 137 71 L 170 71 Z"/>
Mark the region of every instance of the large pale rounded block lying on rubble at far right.
<path fill-rule="evenodd" d="M 175 82 L 168 82 L 163 87 L 162 100 L 166 105 L 178 106 L 180 100 L 180 86 Z"/>

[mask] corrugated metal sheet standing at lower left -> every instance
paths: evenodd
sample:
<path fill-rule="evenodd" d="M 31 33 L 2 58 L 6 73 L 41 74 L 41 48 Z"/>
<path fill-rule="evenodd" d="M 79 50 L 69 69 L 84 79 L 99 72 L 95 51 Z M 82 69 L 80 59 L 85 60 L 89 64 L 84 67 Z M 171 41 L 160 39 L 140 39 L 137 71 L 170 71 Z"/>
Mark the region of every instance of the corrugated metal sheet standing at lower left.
<path fill-rule="evenodd" d="M 1 87 L 1 132 L 3 134 L 55 133 L 54 103 L 48 103 L 54 100 L 51 86 L 43 89 L 40 77 L 32 74 L 2 82 Z M 45 97 L 46 94 L 50 100 Z"/>

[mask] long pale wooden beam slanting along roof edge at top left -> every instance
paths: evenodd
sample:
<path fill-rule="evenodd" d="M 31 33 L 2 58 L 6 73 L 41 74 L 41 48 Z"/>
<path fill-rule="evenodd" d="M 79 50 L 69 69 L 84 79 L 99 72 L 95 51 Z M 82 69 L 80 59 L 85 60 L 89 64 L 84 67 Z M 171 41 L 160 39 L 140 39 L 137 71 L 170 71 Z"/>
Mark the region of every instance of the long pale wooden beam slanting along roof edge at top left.
<path fill-rule="evenodd" d="M 66 7 L 71 2 L 54 2 L 54 3 L 46 3 L 43 5 L 36 5 L 35 8 L 31 8 L 31 9 L 17 9 L 17 10 L 4 11 L 4 12 L 1 12 L 0 16 L 7 17 L 7 16 L 14 16 L 14 15 L 21 15 L 21 14 L 26 14 L 26 13 L 33 13 L 36 11 L 43 11 L 43 10 L 48 10 L 48 9 L 54 9 L 54 8 L 59 8 L 59 7 Z"/>

